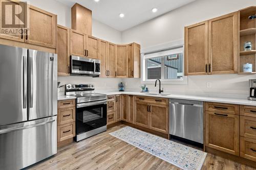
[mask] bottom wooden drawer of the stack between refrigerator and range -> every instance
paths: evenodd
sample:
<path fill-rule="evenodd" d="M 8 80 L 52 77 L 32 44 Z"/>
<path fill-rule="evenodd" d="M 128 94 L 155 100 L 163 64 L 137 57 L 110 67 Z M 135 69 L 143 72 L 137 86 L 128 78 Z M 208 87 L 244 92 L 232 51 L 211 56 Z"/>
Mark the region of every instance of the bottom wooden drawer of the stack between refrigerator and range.
<path fill-rule="evenodd" d="M 58 142 L 70 139 L 75 136 L 75 123 L 58 126 Z"/>

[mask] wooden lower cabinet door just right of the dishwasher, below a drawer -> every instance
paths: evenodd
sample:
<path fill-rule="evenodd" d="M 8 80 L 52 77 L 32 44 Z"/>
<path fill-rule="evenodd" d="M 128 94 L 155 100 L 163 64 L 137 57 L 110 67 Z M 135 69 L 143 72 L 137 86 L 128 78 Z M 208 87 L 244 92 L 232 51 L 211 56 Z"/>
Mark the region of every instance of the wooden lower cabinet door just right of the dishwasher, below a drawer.
<path fill-rule="evenodd" d="M 205 145 L 239 156 L 239 115 L 206 111 Z"/>

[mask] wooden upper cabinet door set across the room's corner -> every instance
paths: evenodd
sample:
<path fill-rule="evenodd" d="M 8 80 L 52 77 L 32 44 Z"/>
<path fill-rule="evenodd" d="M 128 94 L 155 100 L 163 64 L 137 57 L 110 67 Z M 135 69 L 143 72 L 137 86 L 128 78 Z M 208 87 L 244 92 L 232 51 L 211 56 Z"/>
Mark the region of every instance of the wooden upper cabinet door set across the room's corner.
<path fill-rule="evenodd" d="M 116 78 L 126 78 L 128 71 L 128 46 L 116 45 Z"/>

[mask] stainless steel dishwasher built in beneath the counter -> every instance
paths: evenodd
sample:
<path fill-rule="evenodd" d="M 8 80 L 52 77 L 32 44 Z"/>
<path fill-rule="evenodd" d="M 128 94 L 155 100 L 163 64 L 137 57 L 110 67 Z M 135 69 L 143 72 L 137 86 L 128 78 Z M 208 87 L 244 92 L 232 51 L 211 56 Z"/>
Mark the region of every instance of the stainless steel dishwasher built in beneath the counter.
<path fill-rule="evenodd" d="M 203 102 L 169 99 L 169 134 L 203 144 Z"/>

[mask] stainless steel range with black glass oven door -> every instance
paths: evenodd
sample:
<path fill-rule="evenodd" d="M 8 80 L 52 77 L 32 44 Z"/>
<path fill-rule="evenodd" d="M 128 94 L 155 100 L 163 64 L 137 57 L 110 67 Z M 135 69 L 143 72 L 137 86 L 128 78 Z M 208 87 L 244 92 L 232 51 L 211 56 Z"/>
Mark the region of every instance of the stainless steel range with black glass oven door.
<path fill-rule="evenodd" d="M 67 84 L 66 95 L 76 97 L 76 142 L 106 131 L 106 95 L 93 84 Z"/>

